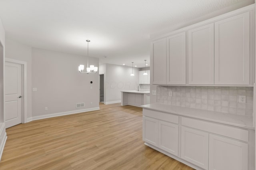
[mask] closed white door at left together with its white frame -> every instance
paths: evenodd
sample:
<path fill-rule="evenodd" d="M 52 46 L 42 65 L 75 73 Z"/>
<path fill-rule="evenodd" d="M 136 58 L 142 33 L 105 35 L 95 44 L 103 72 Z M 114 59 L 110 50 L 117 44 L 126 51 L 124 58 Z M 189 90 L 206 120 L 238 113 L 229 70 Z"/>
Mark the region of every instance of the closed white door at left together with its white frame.
<path fill-rule="evenodd" d="M 26 123 L 26 62 L 6 58 L 4 92 L 6 128 Z"/>

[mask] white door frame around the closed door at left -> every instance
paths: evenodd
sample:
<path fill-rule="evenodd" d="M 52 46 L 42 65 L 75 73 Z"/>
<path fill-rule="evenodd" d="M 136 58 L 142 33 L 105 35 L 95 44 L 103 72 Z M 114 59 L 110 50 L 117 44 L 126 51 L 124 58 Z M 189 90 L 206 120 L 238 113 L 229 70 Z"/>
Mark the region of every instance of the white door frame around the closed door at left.
<path fill-rule="evenodd" d="M 15 64 L 20 64 L 21 65 L 21 80 L 22 80 L 22 109 L 21 109 L 21 123 L 27 123 L 28 122 L 28 92 L 27 92 L 27 62 L 26 61 L 19 61 L 16 59 L 10 59 L 10 58 L 5 58 L 5 63 L 15 63 Z M 4 101 L 5 102 L 5 101 Z M 5 121 L 5 119 L 4 119 Z"/>

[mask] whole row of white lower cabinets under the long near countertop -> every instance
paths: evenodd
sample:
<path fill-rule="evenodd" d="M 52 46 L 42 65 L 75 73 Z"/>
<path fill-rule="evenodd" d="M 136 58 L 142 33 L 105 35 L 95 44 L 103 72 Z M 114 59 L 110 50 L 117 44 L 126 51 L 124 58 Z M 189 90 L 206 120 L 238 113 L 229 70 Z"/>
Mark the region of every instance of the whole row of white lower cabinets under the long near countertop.
<path fill-rule="evenodd" d="M 145 143 L 197 170 L 253 170 L 251 133 L 254 131 L 143 109 Z"/>

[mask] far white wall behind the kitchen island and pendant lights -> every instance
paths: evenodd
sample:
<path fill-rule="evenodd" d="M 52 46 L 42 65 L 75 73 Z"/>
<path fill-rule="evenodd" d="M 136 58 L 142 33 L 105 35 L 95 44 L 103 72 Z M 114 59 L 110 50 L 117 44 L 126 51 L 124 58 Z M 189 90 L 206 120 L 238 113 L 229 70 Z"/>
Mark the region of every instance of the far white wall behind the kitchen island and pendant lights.
<path fill-rule="evenodd" d="M 132 67 L 114 64 L 100 65 L 100 67 L 102 67 L 102 70 L 104 70 L 105 66 L 106 71 L 104 103 L 109 104 L 121 102 L 121 90 L 134 90 L 138 88 L 138 68 L 133 68 L 134 76 L 130 76 L 130 74 L 132 73 Z"/>

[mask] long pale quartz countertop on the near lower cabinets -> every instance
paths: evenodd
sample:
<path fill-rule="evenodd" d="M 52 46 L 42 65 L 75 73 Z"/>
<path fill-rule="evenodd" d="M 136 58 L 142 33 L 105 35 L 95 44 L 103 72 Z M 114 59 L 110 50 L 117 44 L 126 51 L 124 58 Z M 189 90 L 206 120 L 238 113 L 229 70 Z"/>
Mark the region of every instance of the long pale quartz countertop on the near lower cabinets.
<path fill-rule="evenodd" d="M 202 109 L 194 109 L 190 107 L 172 106 L 162 103 L 151 103 L 142 105 L 142 108 L 172 113 L 184 117 L 196 118 L 235 127 L 247 128 L 254 130 L 253 117 L 244 115 L 232 115 L 230 113 L 222 113 L 216 111 L 207 111 Z"/>

